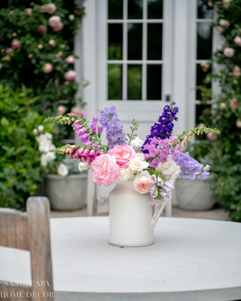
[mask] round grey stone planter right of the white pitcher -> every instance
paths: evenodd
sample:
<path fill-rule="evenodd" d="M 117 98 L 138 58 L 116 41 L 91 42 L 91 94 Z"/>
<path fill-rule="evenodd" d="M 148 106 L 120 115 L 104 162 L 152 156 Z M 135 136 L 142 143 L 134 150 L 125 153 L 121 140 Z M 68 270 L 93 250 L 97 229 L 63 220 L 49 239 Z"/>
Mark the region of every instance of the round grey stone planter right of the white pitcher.
<path fill-rule="evenodd" d="M 202 181 L 199 176 L 189 181 L 184 175 L 174 183 L 174 197 L 178 207 L 185 210 L 209 210 L 214 205 L 214 191 L 209 183 Z"/>

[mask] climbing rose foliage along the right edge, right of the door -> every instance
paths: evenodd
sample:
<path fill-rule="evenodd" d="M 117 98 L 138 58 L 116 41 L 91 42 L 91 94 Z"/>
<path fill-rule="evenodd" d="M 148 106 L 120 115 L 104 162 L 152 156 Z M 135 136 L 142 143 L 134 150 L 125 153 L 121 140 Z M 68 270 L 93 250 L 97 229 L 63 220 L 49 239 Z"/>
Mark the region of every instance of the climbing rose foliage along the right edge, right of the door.
<path fill-rule="evenodd" d="M 209 137 L 211 140 L 207 141 L 196 141 L 190 147 L 190 154 L 205 156 L 205 161 L 211 166 L 215 201 L 230 212 L 233 221 L 241 222 L 241 73 L 235 74 L 233 70 L 236 67 L 240 71 L 241 68 L 241 47 L 234 42 L 241 33 L 241 0 L 227 2 L 227 8 L 223 2 L 216 0 L 209 1 L 208 5 L 212 3 L 218 10 L 218 19 L 213 26 L 220 26 L 220 20 L 227 20 L 230 25 L 223 26 L 221 50 L 212 54 L 211 63 L 218 66 L 217 71 L 214 69 L 207 75 L 209 81 L 218 81 L 221 93 L 215 95 L 205 85 L 198 87 L 203 105 L 212 99 L 212 107 L 202 112 L 200 121 L 218 128 L 221 135 Z M 227 47 L 234 50 L 232 57 L 224 55 Z"/>

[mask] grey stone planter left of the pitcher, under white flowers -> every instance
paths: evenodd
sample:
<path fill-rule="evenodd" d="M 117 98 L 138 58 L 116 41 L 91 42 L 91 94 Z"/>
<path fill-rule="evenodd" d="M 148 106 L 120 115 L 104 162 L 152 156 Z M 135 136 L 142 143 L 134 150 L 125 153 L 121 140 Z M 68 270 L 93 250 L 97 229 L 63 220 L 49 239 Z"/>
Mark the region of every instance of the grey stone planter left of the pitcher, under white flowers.
<path fill-rule="evenodd" d="M 51 209 L 81 209 L 86 201 L 87 174 L 46 175 L 45 193 L 50 200 Z"/>

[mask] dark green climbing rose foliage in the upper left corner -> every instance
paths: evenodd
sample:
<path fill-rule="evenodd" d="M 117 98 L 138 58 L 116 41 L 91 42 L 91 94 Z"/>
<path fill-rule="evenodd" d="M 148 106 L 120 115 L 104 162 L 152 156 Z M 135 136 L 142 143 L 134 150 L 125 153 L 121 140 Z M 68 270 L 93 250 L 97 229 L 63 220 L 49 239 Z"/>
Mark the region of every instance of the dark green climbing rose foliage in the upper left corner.
<path fill-rule="evenodd" d="M 52 14 L 41 12 L 41 5 L 49 2 L 54 3 L 57 10 Z M 65 58 L 73 55 L 73 37 L 83 9 L 77 8 L 74 1 L 63 0 L 8 0 L 1 3 L 1 7 L 0 81 L 15 89 L 21 89 L 22 86 L 32 88 L 34 94 L 39 96 L 32 105 L 40 113 L 52 114 L 61 99 L 69 101 L 69 111 L 76 104 L 79 83 L 64 78 L 64 74 L 73 69 L 73 64 L 67 64 Z M 26 9 L 31 9 L 31 13 L 28 14 Z M 69 18 L 70 15 L 72 18 Z M 61 18 L 64 25 L 62 30 L 54 31 L 48 25 L 52 16 Z M 46 26 L 46 33 L 38 32 L 40 25 Z M 17 49 L 11 46 L 14 39 L 20 43 Z M 55 45 L 49 45 L 50 40 L 54 40 Z M 10 54 L 9 49 L 12 49 Z M 49 73 L 43 69 L 46 64 L 53 67 Z"/>

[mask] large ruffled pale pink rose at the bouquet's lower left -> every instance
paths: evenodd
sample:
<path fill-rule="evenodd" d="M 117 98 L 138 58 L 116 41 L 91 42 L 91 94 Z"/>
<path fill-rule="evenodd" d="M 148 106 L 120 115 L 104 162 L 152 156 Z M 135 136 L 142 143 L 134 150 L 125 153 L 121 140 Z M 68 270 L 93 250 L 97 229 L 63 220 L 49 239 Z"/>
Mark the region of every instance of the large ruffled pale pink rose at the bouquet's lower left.
<path fill-rule="evenodd" d="M 108 154 L 97 157 L 91 163 L 91 178 L 98 185 L 110 186 L 119 179 L 119 165 L 116 158 Z"/>

